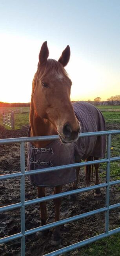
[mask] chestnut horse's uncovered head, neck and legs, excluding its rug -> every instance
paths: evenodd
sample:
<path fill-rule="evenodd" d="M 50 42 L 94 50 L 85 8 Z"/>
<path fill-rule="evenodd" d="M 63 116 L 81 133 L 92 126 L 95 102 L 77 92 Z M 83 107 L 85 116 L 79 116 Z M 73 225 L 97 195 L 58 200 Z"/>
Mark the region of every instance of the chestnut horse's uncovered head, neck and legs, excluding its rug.
<path fill-rule="evenodd" d="M 44 42 L 40 54 L 38 69 L 33 79 L 33 89 L 31 96 L 30 108 L 30 136 L 59 135 L 62 143 L 73 143 L 78 139 L 81 132 L 80 122 L 76 118 L 73 105 L 70 100 L 72 82 L 67 75 L 64 67 L 69 62 L 70 48 L 67 45 L 62 52 L 58 61 L 48 59 L 49 50 L 47 42 Z M 50 143 L 50 141 L 49 141 Z M 48 141 L 36 141 L 32 145 L 35 148 L 44 148 Z M 87 160 L 92 160 L 91 157 Z M 75 159 L 75 162 L 80 159 Z M 76 181 L 73 182 L 73 189 L 77 188 L 78 173 L 80 168 L 76 168 Z M 90 174 L 90 167 L 86 167 L 87 173 Z M 98 180 L 98 165 L 95 165 L 96 182 Z M 90 178 L 87 180 L 89 183 Z M 54 194 L 62 191 L 62 185 L 56 186 Z M 100 195 L 100 191 L 97 191 Z M 45 187 L 38 187 L 38 197 L 45 196 Z M 55 204 L 55 221 L 60 219 L 61 199 L 56 198 Z M 46 203 L 40 203 L 41 226 L 47 223 Z M 40 232 L 45 235 L 47 231 Z M 52 245 L 59 245 L 61 241 L 60 228 L 55 227 L 51 237 Z"/>

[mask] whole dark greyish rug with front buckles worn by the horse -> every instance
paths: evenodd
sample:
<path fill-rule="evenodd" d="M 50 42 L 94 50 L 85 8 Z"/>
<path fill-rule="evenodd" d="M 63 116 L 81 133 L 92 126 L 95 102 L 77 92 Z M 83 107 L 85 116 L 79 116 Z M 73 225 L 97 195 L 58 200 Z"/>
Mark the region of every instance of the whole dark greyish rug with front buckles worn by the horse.
<path fill-rule="evenodd" d="M 81 132 L 105 130 L 102 113 L 87 102 L 73 103 L 76 118 L 80 121 Z M 28 131 L 29 136 L 30 128 Z M 75 163 L 75 159 L 85 160 L 89 156 L 104 158 L 106 149 L 105 136 L 81 137 L 74 143 L 64 144 L 57 139 L 45 148 L 35 148 L 27 143 L 27 171 Z M 38 173 L 28 176 L 31 185 L 55 187 L 76 180 L 75 168 Z"/>

